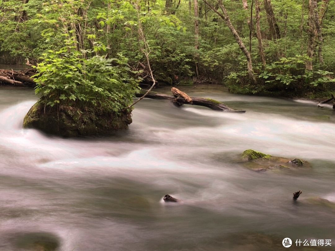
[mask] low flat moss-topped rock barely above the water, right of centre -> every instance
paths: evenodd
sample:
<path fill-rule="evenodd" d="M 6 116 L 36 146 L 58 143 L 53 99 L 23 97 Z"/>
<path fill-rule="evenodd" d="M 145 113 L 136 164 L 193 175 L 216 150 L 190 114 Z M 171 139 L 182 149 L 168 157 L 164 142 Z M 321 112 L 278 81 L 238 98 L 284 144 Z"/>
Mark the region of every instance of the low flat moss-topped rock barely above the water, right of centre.
<path fill-rule="evenodd" d="M 258 172 L 273 169 L 288 170 L 300 167 L 311 167 L 311 165 L 303 159 L 290 160 L 288 158 L 257 152 L 252 149 L 245 150 L 241 154 L 241 158 L 245 167 Z"/>

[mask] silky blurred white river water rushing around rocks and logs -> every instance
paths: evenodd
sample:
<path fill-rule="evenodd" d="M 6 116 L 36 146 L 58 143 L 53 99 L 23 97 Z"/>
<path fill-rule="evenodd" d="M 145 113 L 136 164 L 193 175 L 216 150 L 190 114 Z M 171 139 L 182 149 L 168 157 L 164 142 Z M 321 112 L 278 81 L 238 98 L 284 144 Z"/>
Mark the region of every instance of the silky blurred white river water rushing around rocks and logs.
<path fill-rule="evenodd" d="M 0 87 L 0 250 L 280 250 L 286 237 L 333 248 L 334 208 L 308 202 L 335 202 L 332 108 L 180 89 L 247 112 L 143 99 L 127 131 L 62 139 L 22 129 L 33 90 Z M 313 168 L 251 171 L 237 161 L 246 149 Z"/>

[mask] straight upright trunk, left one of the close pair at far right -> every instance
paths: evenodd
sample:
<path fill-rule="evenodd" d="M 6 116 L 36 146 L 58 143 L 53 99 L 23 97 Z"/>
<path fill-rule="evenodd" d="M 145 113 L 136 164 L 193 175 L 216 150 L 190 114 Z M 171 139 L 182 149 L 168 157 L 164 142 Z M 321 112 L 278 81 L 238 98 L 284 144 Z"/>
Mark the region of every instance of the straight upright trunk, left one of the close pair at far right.
<path fill-rule="evenodd" d="M 314 42 L 314 35 L 315 35 L 315 25 L 314 25 L 314 8 L 316 2 L 313 0 L 309 0 L 308 4 L 308 41 L 307 41 L 307 57 L 309 58 L 306 61 L 306 70 L 312 71 L 313 70 L 313 42 Z"/>

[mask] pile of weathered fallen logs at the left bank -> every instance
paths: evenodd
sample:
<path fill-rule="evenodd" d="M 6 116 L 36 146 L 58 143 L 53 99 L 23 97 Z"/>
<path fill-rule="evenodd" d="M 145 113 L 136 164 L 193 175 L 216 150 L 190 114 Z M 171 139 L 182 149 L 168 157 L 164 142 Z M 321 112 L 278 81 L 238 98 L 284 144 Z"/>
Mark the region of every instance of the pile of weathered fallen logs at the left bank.
<path fill-rule="evenodd" d="M 25 69 L 22 71 L 0 70 L 0 85 L 35 87 L 36 82 L 31 78 L 35 73 L 34 69 Z"/>

